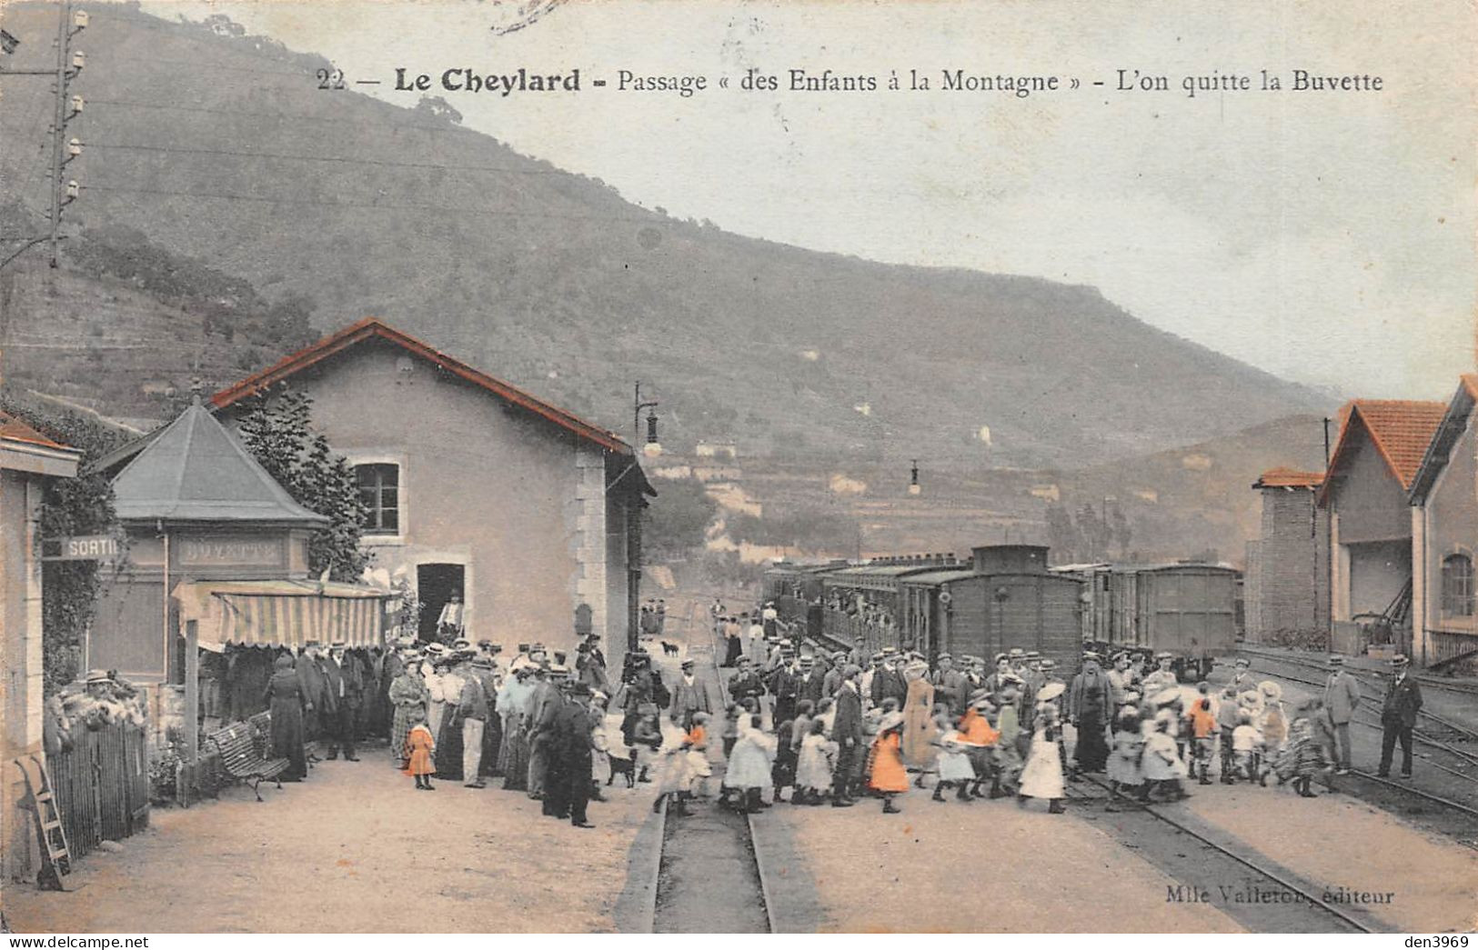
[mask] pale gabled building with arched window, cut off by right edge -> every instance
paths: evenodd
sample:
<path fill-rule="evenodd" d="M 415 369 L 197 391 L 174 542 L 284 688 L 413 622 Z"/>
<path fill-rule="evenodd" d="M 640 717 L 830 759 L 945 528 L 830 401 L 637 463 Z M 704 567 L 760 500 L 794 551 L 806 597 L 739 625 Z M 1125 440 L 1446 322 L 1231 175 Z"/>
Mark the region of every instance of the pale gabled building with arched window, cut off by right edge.
<path fill-rule="evenodd" d="M 1478 652 L 1478 375 L 1462 377 L 1411 482 L 1411 629 L 1423 665 Z"/>

